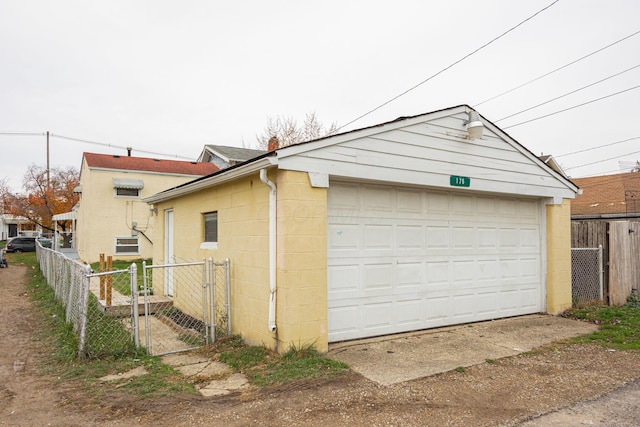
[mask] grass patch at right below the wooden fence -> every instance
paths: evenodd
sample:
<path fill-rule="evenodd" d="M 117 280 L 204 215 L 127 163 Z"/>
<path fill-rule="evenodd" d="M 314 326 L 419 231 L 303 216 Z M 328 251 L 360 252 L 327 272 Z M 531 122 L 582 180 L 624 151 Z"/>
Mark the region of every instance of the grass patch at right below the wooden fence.
<path fill-rule="evenodd" d="M 578 342 L 596 343 L 618 350 L 640 350 L 640 308 L 594 305 L 569 310 L 566 317 L 599 325 L 591 334 L 574 338 Z"/>

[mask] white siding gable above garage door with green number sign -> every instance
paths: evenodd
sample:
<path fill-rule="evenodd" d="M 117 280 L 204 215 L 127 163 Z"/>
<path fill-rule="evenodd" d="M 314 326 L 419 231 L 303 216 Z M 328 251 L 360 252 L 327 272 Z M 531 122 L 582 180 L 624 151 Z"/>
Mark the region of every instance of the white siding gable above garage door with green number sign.
<path fill-rule="evenodd" d="M 281 169 L 330 177 L 451 188 L 452 175 L 471 178 L 465 191 L 574 198 L 575 187 L 486 120 L 469 140 L 468 107 L 454 107 L 382 126 L 278 150 Z"/>

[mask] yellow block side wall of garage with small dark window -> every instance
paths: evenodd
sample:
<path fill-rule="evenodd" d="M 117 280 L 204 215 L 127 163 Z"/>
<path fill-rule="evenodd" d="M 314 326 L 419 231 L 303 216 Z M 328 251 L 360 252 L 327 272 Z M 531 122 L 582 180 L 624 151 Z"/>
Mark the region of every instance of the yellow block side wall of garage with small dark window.
<path fill-rule="evenodd" d="M 274 176 L 271 176 L 274 175 Z M 275 174 L 270 174 L 275 179 Z M 254 345 L 275 348 L 267 327 L 269 310 L 269 189 L 259 175 L 204 189 L 157 204 L 155 263 L 165 258 L 165 214 L 174 214 L 174 255 L 179 261 L 230 259 L 233 333 Z M 207 212 L 218 212 L 218 247 L 201 249 Z M 155 281 L 155 279 L 154 279 Z M 161 291 L 154 288 L 154 292 Z M 174 292 L 176 289 L 174 289 Z M 177 289 L 178 294 L 180 290 Z M 193 308 L 180 306 L 189 312 Z M 195 313 L 194 313 L 195 314 Z"/>

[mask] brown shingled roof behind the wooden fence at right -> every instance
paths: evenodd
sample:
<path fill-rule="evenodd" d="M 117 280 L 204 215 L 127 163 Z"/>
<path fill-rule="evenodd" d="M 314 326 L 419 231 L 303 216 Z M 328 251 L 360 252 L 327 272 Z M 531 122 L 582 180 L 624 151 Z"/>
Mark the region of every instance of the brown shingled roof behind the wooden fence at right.
<path fill-rule="evenodd" d="M 571 202 L 574 218 L 640 215 L 640 172 L 573 178 L 582 194 Z"/>

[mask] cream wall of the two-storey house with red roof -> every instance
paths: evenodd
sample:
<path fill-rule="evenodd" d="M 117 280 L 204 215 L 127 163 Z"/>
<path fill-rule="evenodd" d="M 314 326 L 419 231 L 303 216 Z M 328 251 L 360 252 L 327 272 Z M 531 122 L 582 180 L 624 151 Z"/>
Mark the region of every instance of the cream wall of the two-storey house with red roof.
<path fill-rule="evenodd" d="M 114 177 L 142 179 L 144 188 L 140 190 L 140 197 L 116 197 Z M 83 160 L 80 175 L 82 195 L 76 212 L 76 249 L 80 259 L 88 263 L 97 262 L 101 253 L 120 260 L 151 258 L 152 244 L 142 234 L 138 234 L 140 253 L 135 255 L 116 256 L 115 237 L 131 236 L 131 226 L 135 221 L 136 228 L 155 242 L 155 217 L 150 215 L 149 205 L 142 199 L 195 178 L 197 177 L 89 169 Z"/>

